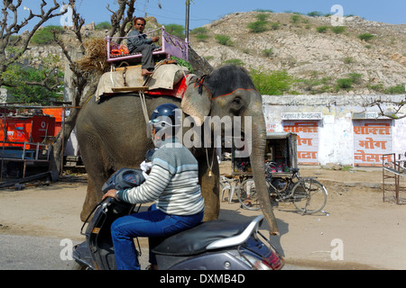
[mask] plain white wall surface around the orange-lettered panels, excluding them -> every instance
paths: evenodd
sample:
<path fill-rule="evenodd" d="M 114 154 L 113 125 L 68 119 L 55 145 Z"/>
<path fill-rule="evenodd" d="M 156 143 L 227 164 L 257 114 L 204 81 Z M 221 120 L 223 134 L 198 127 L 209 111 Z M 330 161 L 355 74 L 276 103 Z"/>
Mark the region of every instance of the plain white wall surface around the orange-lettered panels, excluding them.
<path fill-rule="evenodd" d="M 353 113 L 367 112 L 374 115 L 378 106 L 364 108 L 365 104 L 381 99 L 384 110 L 393 108 L 389 102 L 401 102 L 405 95 L 263 95 L 263 113 L 267 132 L 281 132 L 282 113 L 297 113 L 311 119 L 318 113 L 318 163 L 354 165 Z M 401 109 L 406 112 L 406 107 Z M 387 118 L 380 118 L 387 119 Z M 406 118 L 392 121 L 392 151 L 406 151 Z"/>

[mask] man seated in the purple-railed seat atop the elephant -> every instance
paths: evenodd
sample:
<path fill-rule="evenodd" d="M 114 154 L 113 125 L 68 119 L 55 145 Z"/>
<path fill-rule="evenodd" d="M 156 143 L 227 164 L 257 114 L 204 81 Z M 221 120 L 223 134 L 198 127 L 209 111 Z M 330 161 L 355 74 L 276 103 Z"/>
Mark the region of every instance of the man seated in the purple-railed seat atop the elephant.
<path fill-rule="evenodd" d="M 128 33 L 127 38 L 127 48 L 130 53 L 141 52 L 142 58 L 142 76 L 152 75 L 153 64 L 152 51 L 158 49 L 158 46 L 152 44 L 152 42 L 157 42 L 160 40 L 159 37 L 155 36 L 152 39 L 146 38 L 146 35 L 143 33 L 145 29 L 146 21 L 143 17 L 137 17 L 134 19 L 134 28 L 135 30 Z"/>

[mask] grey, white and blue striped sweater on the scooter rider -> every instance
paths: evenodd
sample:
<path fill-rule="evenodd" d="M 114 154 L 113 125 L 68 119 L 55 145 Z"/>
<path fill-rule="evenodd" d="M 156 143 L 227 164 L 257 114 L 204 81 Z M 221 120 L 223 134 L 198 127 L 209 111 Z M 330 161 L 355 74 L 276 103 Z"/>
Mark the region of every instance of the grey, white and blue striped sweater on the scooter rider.
<path fill-rule="evenodd" d="M 167 214 L 192 215 L 204 210 L 198 184 L 198 161 L 177 139 L 165 140 L 152 156 L 148 179 L 138 187 L 119 191 L 116 197 L 130 203 L 156 201 Z"/>

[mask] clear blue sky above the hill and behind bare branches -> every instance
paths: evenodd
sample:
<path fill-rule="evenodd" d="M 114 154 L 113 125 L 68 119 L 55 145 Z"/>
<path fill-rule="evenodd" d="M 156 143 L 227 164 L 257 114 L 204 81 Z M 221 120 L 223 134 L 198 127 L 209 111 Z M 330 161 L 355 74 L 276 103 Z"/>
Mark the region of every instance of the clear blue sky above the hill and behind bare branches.
<path fill-rule="evenodd" d="M 51 5 L 53 2 L 48 1 Z M 61 3 L 62 1 L 58 1 Z M 68 1 L 65 1 L 68 2 Z M 39 9 L 41 2 L 38 0 L 23 0 L 23 5 L 28 8 Z M 110 5 L 112 10 L 117 7 L 115 0 L 77 0 L 78 12 L 86 20 L 86 23 L 109 22 L 110 12 L 106 6 Z M 161 4 L 161 9 L 158 7 Z M 340 10 L 332 7 L 339 5 Z M 137 0 L 135 3 L 136 16 L 154 16 L 158 23 L 176 23 L 185 26 L 186 0 Z M 366 20 L 402 24 L 406 23 L 406 1 L 405 0 L 192 0 L 189 10 L 189 29 L 192 30 L 220 19 L 226 14 L 237 12 L 249 12 L 257 9 L 272 10 L 275 13 L 299 12 L 320 12 L 322 14 L 357 15 Z M 20 17 L 28 15 L 27 11 L 21 9 Z M 22 18 L 20 19 L 22 20 Z M 46 25 L 60 25 L 66 22 L 54 18 Z M 30 27 L 27 27 L 30 28 Z"/>

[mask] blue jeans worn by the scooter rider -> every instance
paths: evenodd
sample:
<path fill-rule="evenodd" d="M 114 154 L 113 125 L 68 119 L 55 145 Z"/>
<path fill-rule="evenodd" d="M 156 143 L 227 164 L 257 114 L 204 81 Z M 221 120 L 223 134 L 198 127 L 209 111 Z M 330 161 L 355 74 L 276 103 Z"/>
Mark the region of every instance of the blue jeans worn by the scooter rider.
<path fill-rule="evenodd" d="M 194 215 L 169 215 L 153 204 L 148 211 L 123 216 L 111 226 L 111 236 L 115 247 L 115 263 L 118 270 L 140 270 L 135 237 L 149 237 L 150 263 L 156 264 L 152 247 L 164 237 L 190 229 L 203 219 L 203 211 Z"/>

